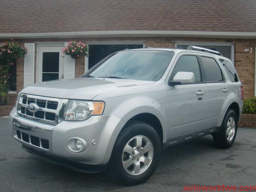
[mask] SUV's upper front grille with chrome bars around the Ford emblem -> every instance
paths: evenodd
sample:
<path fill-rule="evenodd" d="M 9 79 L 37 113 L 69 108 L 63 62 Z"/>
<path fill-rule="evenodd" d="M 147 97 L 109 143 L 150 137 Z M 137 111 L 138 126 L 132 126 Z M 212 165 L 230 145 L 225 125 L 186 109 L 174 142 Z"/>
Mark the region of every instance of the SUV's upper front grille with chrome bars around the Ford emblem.
<path fill-rule="evenodd" d="M 64 100 L 58 98 L 21 94 L 17 112 L 25 118 L 56 125 L 63 102 Z M 30 103 L 34 103 L 38 106 L 36 112 L 30 112 L 28 110 Z"/>

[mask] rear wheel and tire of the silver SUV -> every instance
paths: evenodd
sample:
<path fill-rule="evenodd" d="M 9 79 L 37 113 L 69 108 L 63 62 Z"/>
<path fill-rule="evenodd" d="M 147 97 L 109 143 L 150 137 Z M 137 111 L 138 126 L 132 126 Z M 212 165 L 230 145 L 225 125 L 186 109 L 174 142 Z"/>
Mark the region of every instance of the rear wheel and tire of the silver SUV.
<path fill-rule="evenodd" d="M 233 124 L 233 125 L 231 126 L 230 124 Z M 218 148 L 231 147 L 236 139 L 237 125 L 238 125 L 238 118 L 236 116 L 235 111 L 229 110 L 222 121 L 220 131 L 218 133 L 213 134 L 214 144 Z"/>

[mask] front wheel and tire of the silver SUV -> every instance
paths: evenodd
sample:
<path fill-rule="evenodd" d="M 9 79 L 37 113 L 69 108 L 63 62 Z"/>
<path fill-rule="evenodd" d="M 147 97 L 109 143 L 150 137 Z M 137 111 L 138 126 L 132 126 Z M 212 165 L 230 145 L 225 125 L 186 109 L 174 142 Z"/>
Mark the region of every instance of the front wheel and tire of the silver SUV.
<path fill-rule="evenodd" d="M 145 182 L 156 170 L 161 150 L 160 138 L 152 126 L 140 121 L 128 122 L 114 144 L 108 165 L 110 179 L 126 186 Z"/>

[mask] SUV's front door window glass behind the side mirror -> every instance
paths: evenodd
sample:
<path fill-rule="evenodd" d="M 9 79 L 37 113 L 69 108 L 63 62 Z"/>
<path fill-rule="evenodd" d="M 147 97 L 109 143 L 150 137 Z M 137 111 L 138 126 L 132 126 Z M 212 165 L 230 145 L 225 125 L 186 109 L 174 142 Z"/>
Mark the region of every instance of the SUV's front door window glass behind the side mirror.
<path fill-rule="evenodd" d="M 172 78 L 178 72 L 192 72 L 195 76 L 195 82 L 202 82 L 199 63 L 196 56 L 181 56 L 172 71 Z"/>

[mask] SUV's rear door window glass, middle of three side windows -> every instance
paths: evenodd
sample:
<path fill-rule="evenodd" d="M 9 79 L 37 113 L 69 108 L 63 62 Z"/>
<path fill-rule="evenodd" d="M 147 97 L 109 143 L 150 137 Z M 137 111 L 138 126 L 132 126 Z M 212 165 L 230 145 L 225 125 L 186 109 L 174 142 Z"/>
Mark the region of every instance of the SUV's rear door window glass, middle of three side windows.
<path fill-rule="evenodd" d="M 223 81 L 218 63 L 209 57 L 201 57 L 206 82 Z"/>

